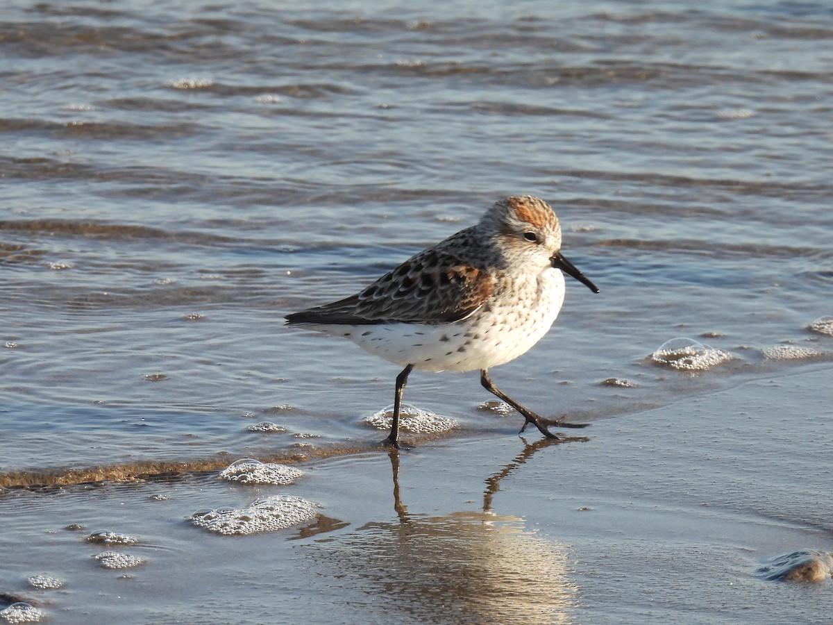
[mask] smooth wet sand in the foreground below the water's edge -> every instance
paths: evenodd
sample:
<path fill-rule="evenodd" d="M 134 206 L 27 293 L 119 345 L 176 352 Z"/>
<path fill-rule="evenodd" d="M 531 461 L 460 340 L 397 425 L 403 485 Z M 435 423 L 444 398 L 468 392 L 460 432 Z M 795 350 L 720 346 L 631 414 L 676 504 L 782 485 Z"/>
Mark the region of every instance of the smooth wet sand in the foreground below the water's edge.
<path fill-rule="evenodd" d="M 208 472 L 13 491 L 0 590 L 57 622 L 827 622 L 829 576 L 759 569 L 833 550 L 828 380 L 773 373 L 584 441 L 511 436 L 511 415 L 501 433 L 299 463 L 285 487 Z M 187 520 L 278 493 L 317 502 L 316 521 L 221 536 Z M 102 530 L 137 542 L 87 539 Z M 107 569 L 107 549 L 144 562 Z"/>

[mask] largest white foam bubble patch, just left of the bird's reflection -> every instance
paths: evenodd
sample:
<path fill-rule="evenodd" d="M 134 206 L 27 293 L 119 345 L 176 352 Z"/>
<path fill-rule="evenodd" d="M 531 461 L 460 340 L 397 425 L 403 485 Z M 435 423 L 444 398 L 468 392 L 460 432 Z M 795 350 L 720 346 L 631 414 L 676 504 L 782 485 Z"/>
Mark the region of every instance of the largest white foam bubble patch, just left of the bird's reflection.
<path fill-rule="evenodd" d="M 318 504 L 291 495 L 256 499 L 248 507 L 218 507 L 199 510 L 190 518 L 197 527 L 227 536 L 246 536 L 257 532 L 275 532 L 310 521 L 316 517 Z"/>

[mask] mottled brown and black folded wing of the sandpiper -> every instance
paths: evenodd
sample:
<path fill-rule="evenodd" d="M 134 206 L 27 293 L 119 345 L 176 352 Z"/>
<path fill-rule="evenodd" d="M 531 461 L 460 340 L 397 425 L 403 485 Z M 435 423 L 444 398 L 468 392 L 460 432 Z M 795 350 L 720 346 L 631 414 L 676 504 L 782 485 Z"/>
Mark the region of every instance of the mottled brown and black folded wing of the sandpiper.
<path fill-rule="evenodd" d="M 453 246 L 449 246 L 453 247 Z M 431 248 L 350 298 L 287 315 L 288 323 L 451 323 L 491 296 L 495 278 L 448 248 Z"/>

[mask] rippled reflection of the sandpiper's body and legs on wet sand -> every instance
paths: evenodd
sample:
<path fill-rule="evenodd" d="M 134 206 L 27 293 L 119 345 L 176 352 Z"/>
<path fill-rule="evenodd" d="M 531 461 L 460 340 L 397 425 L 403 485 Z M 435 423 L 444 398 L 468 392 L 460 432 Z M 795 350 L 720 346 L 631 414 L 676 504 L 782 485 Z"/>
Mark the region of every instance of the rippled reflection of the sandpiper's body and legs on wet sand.
<path fill-rule="evenodd" d="M 486 478 L 481 510 L 427 516 L 409 512 L 399 487 L 400 452 L 388 456 L 397 520 L 369 522 L 312 547 L 326 552 L 339 594 L 370 620 L 570 622 L 576 586 L 566 544 L 528 532 L 522 518 L 492 512 L 500 483 L 543 448 L 527 444 Z M 324 553 L 322 553 L 322 556 Z"/>

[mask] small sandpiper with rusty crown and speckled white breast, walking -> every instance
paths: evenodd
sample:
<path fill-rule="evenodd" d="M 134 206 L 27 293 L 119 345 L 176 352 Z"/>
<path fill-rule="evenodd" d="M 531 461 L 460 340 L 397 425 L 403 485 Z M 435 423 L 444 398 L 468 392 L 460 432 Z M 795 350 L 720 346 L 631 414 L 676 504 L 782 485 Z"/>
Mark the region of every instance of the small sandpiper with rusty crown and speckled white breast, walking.
<path fill-rule="evenodd" d="M 408 374 L 480 369 L 481 384 L 547 438 L 543 418 L 491 382 L 488 369 L 521 356 L 543 337 L 564 301 L 567 273 L 599 289 L 561 255 L 561 226 L 546 202 L 513 196 L 494 204 L 471 228 L 416 254 L 349 298 L 287 315 L 287 323 L 349 338 L 402 369 L 391 433 L 398 447 L 399 409 Z"/>

